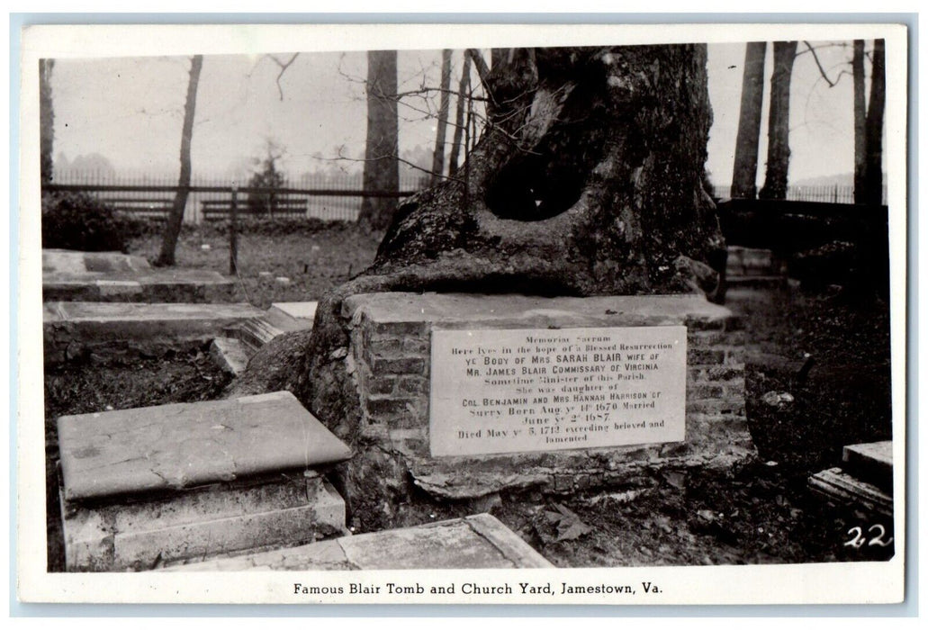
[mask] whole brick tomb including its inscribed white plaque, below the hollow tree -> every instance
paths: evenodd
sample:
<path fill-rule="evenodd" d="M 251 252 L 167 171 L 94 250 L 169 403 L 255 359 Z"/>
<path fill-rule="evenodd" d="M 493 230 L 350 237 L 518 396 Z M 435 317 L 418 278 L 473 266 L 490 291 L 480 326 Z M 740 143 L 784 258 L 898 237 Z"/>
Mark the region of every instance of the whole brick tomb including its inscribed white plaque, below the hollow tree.
<path fill-rule="evenodd" d="M 360 420 L 325 421 L 383 444 L 396 469 L 438 498 L 573 493 L 754 455 L 743 332 L 702 297 L 378 293 L 346 299 L 342 316 Z M 507 434 L 488 439 L 490 430 Z M 383 469 L 365 457 L 351 462 L 358 479 L 368 464 Z"/>

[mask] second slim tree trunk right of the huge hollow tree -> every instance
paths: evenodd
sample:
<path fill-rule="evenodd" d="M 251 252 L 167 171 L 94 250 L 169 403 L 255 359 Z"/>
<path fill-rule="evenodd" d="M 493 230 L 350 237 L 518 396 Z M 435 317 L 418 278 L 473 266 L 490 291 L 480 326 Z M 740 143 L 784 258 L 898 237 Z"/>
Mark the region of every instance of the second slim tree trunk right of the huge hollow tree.
<path fill-rule="evenodd" d="M 767 174 L 761 199 L 786 199 L 790 172 L 790 82 L 798 42 L 775 42 L 767 122 Z"/>

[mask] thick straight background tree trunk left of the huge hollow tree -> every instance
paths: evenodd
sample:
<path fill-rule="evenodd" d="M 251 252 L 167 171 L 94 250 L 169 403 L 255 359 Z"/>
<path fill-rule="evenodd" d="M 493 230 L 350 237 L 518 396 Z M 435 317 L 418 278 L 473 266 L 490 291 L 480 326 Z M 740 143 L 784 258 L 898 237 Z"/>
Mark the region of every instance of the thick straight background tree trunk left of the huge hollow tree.
<path fill-rule="evenodd" d="M 367 145 L 365 191 L 399 192 L 399 132 L 396 110 L 396 51 L 367 53 Z M 396 199 L 365 197 L 358 223 L 367 230 L 390 225 Z"/>

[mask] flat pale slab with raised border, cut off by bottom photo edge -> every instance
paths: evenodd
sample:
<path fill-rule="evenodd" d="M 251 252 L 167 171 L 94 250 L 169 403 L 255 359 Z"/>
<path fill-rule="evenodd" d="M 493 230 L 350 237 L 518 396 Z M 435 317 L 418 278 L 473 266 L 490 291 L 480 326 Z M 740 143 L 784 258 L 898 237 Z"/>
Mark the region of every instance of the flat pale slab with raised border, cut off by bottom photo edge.
<path fill-rule="evenodd" d="M 489 514 L 177 565 L 165 571 L 530 569 L 553 565 Z"/>

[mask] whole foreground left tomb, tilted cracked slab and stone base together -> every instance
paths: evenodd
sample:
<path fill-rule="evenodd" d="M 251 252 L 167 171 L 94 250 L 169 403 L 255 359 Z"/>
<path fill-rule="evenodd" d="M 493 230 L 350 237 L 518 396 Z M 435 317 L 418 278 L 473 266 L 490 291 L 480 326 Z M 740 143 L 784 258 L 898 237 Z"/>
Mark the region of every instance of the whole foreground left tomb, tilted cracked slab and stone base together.
<path fill-rule="evenodd" d="M 350 449 L 290 392 L 58 418 L 69 571 L 342 534 L 320 470 Z"/>

